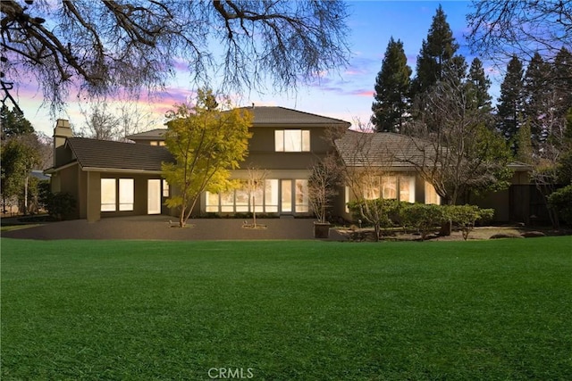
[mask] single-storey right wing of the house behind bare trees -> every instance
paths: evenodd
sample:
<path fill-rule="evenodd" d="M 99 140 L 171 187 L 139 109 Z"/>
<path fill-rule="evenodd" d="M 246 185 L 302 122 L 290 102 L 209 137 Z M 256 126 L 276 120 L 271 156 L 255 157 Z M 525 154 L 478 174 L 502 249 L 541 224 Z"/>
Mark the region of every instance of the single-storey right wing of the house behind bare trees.
<path fill-rule="evenodd" d="M 434 157 L 435 146 L 421 139 L 395 133 L 363 133 L 349 130 L 335 142 L 349 176 L 344 203 L 357 197 L 396 199 L 408 203 L 442 203 L 433 185 L 418 170 L 426 159 Z M 441 148 L 443 149 L 443 148 Z M 438 165 L 438 164 L 437 164 Z M 528 194 L 530 166 L 511 162 L 512 178 L 508 189 L 473 197 L 470 203 L 495 210 L 494 221 L 525 221 L 530 216 Z M 467 200 L 466 200 L 467 202 Z M 337 208 L 341 211 L 340 206 Z M 346 208 L 340 212 L 351 215 Z"/>

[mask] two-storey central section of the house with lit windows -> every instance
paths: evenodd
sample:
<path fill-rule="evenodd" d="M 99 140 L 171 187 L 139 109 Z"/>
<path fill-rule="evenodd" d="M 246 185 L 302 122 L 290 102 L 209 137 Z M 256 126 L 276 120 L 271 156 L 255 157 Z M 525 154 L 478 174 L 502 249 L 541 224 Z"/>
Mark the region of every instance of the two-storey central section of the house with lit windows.
<path fill-rule="evenodd" d="M 284 107 L 252 106 L 248 157 L 231 178 L 243 186 L 222 194 L 205 192 L 195 215 L 254 211 L 265 214 L 308 216 L 307 178 L 315 162 L 334 147 L 325 137 L 329 128 L 348 129 L 350 123 Z M 127 138 L 141 145 L 163 145 L 165 129 L 154 129 Z M 264 182 L 254 197 L 248 192 L 248 179 Z"/>

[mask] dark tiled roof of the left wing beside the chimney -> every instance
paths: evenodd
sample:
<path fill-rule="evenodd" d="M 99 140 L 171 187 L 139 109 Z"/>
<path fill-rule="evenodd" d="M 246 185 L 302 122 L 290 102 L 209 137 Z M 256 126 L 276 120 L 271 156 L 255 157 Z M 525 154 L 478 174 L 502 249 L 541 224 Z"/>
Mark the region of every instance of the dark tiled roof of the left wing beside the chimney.
<path fill-rule="evenodd" d="M 67 145 L 82 168 L 112 170 L 161 170 L 161 162 L 172 162 L 165 147 L 136 145 L 108 140 L 70 137 Z"/>

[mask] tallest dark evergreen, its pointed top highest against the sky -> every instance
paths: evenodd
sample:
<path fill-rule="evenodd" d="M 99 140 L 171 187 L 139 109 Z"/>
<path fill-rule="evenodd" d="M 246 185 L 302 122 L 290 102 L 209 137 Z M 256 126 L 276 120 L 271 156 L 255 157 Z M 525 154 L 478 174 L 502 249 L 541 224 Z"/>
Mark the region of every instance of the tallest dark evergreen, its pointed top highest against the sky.
<path fill-rule="evenodd" d="M 416 78 L 411 84 L 411 96 L 424 93 L 443 77 L 443 69 L 455 55 L 458 44 L 447 22 L 447 16 L 439 5 L 433 16 L 427 39 L 423 40 L 417 56 Z"/>

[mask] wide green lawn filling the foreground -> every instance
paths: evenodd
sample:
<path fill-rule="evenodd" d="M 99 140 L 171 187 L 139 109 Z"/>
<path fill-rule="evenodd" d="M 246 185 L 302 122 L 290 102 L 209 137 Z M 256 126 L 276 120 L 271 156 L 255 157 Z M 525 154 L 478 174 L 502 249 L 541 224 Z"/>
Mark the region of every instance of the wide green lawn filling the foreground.
<path fill-rule="evenodd" d="M 571 249 L 3 239 L 2 379 L 572 379 Z"/>

